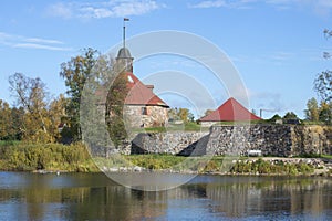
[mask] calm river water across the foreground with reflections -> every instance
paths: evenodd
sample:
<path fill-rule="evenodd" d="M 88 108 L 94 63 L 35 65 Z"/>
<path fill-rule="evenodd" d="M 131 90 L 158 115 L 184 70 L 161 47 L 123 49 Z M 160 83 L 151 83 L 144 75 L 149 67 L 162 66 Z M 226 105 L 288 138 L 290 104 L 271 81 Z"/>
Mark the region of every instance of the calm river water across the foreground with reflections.
<path fill-rule="evenodd" d="M 331 178 L 198 176 L 168 191 L 122 187 L 102 173 L 0 172 L 2 220 L 328 219 Z"/>

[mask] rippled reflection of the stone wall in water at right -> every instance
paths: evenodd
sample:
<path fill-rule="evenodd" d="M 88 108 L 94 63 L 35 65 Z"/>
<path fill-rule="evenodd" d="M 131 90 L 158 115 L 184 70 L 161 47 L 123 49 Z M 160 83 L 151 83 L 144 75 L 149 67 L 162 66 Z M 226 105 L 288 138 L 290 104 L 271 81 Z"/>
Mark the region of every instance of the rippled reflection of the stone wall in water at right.
<path fill-rule="evenodd" d="M 303 212 L 320 215 L 332 210 L 332 180 L 266 179 L 260 182 L 209 183 L 207 197 L 214 201 L 215 211 L 227 217 Z"/>

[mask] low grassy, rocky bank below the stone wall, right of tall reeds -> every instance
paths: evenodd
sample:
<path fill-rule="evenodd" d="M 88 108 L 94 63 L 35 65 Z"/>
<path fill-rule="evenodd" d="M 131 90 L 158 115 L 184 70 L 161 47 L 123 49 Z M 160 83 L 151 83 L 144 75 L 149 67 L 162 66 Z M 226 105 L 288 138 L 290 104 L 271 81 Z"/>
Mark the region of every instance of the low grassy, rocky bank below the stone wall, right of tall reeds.
<path fill-rule="evenodd" d="M 332 176 L 331 160 L 323 158 L 280 157 L 178 157 L 168 155 L 124 156 L 118 159 L 96 159 L 104 172 L 160 171 L 176 173 L 246 175 L 246 176 Z"/>

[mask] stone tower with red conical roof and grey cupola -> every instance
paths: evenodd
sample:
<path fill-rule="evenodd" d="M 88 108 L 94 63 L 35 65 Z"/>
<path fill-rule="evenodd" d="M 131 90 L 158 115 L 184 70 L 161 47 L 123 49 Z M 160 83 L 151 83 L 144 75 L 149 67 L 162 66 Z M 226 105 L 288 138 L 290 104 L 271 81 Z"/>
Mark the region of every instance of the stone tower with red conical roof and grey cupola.
<path fill-rule="evenodd" d="M 122 48 L 116 57 L 124 70 L 128 94 L 125 98 L 124 118 L 132 127 L 164 126 L 168 122 L 169 106 L 154 94 L 153 85 L 143 84 L 133 74 L 133 57 L 129 50 Z"/>

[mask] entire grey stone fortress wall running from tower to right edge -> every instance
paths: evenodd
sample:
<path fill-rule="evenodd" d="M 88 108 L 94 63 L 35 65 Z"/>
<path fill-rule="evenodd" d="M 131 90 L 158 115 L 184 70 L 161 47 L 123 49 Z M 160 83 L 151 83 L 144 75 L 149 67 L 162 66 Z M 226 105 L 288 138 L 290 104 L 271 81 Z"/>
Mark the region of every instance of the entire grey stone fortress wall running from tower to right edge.
<path fill-rule="evenodd" d="M 131 154 L 246 155 L 291 157 L 303 154 L 332 155 L 332 129 L 323 126 L 237 125 L 214 126 L 207 133 L 178 131 L 139 134 Z"/>

